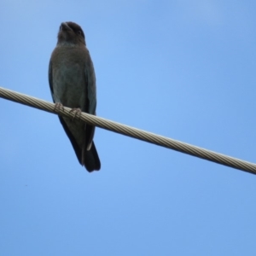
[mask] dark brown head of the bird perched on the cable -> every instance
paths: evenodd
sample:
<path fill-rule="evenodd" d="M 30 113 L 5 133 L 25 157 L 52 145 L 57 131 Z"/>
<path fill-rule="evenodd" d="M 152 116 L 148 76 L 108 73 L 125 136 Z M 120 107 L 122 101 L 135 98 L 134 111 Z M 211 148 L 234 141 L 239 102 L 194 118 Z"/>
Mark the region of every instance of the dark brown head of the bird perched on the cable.
<path fill-rule="evenodd" d="M 78 24 L 68 21 L 62 22 L 60 26 L 60 31 L 58 33 L 58 43 L 57 44 L 84 44 L 85 38 L 84 32 L 81 26 Z"/>

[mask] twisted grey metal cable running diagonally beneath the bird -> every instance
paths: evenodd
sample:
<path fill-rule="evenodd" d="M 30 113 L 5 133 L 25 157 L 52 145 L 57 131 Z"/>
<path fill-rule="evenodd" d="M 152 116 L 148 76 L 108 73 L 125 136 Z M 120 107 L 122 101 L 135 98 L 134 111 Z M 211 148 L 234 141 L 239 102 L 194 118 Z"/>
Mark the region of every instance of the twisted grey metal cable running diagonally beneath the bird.
<path fill-rule="evenodd" d="M 117 122 L 113 122 L 108 119 L 102 119 L 89 113 L 81 113 L 80 116 L 76 116 L 74 112 L 71 112 L 71 108 L 63 107 L 63 109 L 56 109 L 54 103 L 45 102 L 32 96 L 26 96 L 13 90 L 7 90 L 3 87 L 0 87 L 0 97 L 30 106 L 32 108 L 38 108 L 50 113 L 59 114 L 71 119 L 80 119 L 89 125 L 95 125 L 108 131 L 114 131 L 128 137 L 137 138 L 147 143 L 153 143 L 165 148 L 171 148 L 185 154 L 194 155 L 201 159 L 209 160 L 224 166 L 230 166 L 244 172 L 256 174 L 256 165 L 253 163 L 244 160 L 238 160 L 228 155 L 219 154 L 204 148 L 198 148 L 187 143 L 181 143 L 171 138 L 162 137 L 148 131 L 142 131 L 128 125 L 121 125 Z"/>

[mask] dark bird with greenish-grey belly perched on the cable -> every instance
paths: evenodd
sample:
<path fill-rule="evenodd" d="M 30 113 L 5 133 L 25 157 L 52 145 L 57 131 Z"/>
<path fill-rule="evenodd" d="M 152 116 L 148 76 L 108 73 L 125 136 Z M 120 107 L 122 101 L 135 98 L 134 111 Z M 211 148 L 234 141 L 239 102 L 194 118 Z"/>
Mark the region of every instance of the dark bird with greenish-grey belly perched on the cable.
<path fill-rule="evenodd" d="M 49 88 L 55 108 L 96 115 L 96 74 L 84 32 L 73 21 L 62 22 L 49 60 Z M 88 172 L 99 171 L 101 161 L 93 141 L 95 126 L 59 115 L 79 163 Z"/>

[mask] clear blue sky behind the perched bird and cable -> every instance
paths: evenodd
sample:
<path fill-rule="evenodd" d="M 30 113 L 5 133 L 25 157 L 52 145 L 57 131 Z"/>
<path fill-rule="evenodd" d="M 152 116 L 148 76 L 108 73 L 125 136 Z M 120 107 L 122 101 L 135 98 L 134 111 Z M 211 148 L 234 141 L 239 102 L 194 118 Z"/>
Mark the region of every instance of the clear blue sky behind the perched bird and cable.
<path fill-rule="evenodd" d="M 97 114 L 256 162 L 254 0 L 0 3 L 0 86 L 51 102 L 62 21 L 83 27 Z M 256 255 L 256 177 L 0 99 L 1 255 Z"/>

